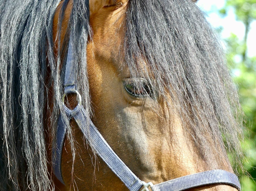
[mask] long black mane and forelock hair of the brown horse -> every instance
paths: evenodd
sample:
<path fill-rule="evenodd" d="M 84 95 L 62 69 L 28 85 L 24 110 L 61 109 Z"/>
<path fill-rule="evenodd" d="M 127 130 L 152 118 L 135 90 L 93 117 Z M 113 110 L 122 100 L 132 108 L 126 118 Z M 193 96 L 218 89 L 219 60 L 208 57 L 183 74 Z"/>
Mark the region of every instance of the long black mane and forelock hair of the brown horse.
<path fill-rule="evenodd" d="M 54 55 L 52 20 L 58 4 L 59 0 L 1 1 L 0 191 L 53 189 L 44 121 L 52 83 L 52 124 L 61 108 L 65 68 L 60 70 L 60 66 L 65 63 L 63 55 L 68 48 L 68 44 L 58 47 L 61 51 Z M 85 1 L 73 1 L 69 30 L 77 42 L 78 89 L 89 117 L 85 53 L 91 36 L 88 8 Z M 202 11 L 191 0 L 131 0 L 125 28 L 122 52 L 131 76 L 143 75 L 163 97 L 170 94 L 175 110 L 198 145 L 204 147 L 202 132 L 210 132 L 216 144 L 233 151 L 239 161 L 242 125 L 238 94 L 219 40 Z M 146 61 L 144 66 L 141 60 Z M 143 68 L 149 70 L 141 73 Z M 54 142 L 56 129 L 54 125 L 49 129 Z M 72 143 L 70 129 L 68 135 Z"/>

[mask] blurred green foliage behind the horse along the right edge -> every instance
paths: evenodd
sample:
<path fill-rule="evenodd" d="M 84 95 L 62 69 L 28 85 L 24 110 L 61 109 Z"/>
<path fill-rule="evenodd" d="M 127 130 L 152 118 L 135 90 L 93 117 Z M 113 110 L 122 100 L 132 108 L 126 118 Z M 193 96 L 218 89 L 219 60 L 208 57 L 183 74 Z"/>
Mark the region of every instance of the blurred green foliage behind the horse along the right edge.
<path fill-rule="evenodd" d="M 242 147 L 247 154 L 243 163 L 248 176 L 241 175 L 240 180 L 244 191 L 256 191 L 256 56 L 247 56 L 248 32 L 251 22 L 256 20 L 256 0 L 226 0 L 225 6 L 219 10 L 220 16 L 225 17 L 229 9 L 233 9 L 236 19 L 245 25 L 244 39 L 239 40 L 233 33 L 224 39 L 227 44 L 228 64 L 239 89 L 240 103 L 245 112 L 244 124 L 247 128 L 244 130 L 245 140 Z"/>

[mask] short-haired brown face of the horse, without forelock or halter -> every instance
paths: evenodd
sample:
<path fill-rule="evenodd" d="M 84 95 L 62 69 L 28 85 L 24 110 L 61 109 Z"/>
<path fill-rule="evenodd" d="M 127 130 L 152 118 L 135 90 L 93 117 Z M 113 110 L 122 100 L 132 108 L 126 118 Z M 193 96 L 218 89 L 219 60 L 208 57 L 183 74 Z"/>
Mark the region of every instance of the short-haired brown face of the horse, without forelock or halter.
<path fill-rule="evenodd" d="M 222 154 L 212 153 L 206 160 L 211 162 L 202 159 L 191 134 L 176 115 L 171 99 L 167 104 L 155 87 L 149 87 L 146 79 L 131 77 L 121 51 L 125 38 L 126 5 L 126 0 L 90 0 L 93 39 L 88 43 L 87 63 L 92 122 L 115 153 L 145 182 L 155 184 L 217 168 L 232 172 L 229 162 L 221 159 Z M 56 34 L 60 7 L 61 4 L 55 13 L 53 34 Z M 70 1 L 65 11 L 64 28 L 71 7 Z M 61 36 L 63 41 L 64 35 Z M 134 89 L 134 83 L 140 83 L 142 89 Z M 99 157 L 95 158 L 72 120 L 71 127 L 77 153 L 73 163 L 66 139 L 61 162 L 66 188 L 127 190 L 107 165 Z M 213 142 L 210 136 L 209 142 Z M 57 187 L 61 188 L 60 184 Z M 208 188 L 235 190 L 226 185 L 200 189 Z"/>

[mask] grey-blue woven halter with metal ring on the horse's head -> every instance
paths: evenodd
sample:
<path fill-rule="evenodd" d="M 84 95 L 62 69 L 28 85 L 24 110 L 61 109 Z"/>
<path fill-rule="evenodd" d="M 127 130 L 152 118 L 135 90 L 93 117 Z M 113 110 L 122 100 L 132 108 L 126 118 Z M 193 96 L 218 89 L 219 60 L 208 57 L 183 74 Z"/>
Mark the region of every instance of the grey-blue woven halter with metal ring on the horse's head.
<path fill-rule="evenodd" d="M 108 145 L 97 128 L 92 123 L 91 119 L 87 117 L 86 111 L 81 102 L 82 98 L 76 89 L 76 65 L 74 62 L 74 39 L 70 36 L 68 59 L 65 71 L 64 95 L 63 95 L 63 110 L 68 119 L 76 120 L 80 130 L 83 132 L 85 138 L 90 140 L 90 146 L 96 151 L 101 159 L 108 165 L 108 167 L 121 179 L 130 191 L 181 191 L 189 188 L 199 187 L 208 184 L 229 184 L 241 191 L 238 177 L 230 172 L 224 170 L 210 170 L 200 173 L 187 175 L 176 178 L 166 182 L 153 185 L 151 182 L 145 183 L 141 181 L 136 175 L 125 165 L 125 163 L 116 155 L 112 148 Z M 73 110 L 70 110 L 64 104 L 64 98 L 67 94 L 76 93 L 78 95 L 78 105 Z M 87 127 L 89 124 L 89 128 Z M 53 148 L 53 170 L 56 177 L 64 184 L 61 172 L 61 152 L 66 135 L 68 125 L 62 114 L 58 119 L 58 127 L 56 132 L 56 145 Z"/>

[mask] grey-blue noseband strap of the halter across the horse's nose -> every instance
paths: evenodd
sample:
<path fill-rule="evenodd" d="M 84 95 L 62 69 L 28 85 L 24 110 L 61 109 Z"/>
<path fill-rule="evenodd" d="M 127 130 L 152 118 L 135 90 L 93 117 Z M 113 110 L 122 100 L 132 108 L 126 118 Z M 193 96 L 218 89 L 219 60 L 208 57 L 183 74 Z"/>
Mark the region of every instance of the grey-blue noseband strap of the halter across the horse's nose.
<path fill-rule="evenodd" d="M 210 170 L 176 178 L 160 184 L 153 185 L 152 191 L 181 191 L 208 184 L 230 184 L 239 191 L 239 180 L 233 173 L 224 170 Z"/>

